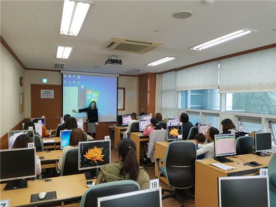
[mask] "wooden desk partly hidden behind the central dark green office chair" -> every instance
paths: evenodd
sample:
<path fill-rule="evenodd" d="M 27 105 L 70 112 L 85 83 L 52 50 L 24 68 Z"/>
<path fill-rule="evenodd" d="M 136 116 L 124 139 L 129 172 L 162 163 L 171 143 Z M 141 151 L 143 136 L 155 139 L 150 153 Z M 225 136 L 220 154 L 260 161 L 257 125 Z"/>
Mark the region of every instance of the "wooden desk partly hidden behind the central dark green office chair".
<path fill-rule="evenodd" d="M 196 140 L 186 140 L 186 141 L 190 141 L 196 144 Z M 155 159 L 162 158 L 163 160 L 165 160 L 165 155 L 166 155 L 166 150 L 168 145 L 169 145 L 169 142 L 167 141 L 155 143 Z M 169 184 L 166 177 L 159 177 L 157 162 L 155 162 L 155 176 L 158 177 L 163 182 L 165 182 L 167 185 Z"/>

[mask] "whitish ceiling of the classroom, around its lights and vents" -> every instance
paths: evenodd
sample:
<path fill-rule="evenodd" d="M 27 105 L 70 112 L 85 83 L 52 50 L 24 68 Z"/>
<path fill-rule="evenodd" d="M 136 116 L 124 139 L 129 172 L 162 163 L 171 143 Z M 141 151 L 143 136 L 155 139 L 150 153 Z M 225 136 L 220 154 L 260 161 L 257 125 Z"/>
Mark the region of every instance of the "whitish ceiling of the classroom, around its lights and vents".
<path fill-rule="evenodd" d="M 59 34 L 62 9 L 63 1 L 1 1 L 1 36 L 27 68 L 53 69 L 54 62 L 64 62 L 64 69 L 72 71 L 161 72 L 276 43 L 276 1 L 94 1 L 78 36 Z M 173 18 L 180 10 L 193 16 Z M 188 49 L 242 28 L 258 32 L 205 51 Z M 145 54 L 103 50 L 112 37 L 163 45 Z M 58 45 L 74 47 L 68 60 L 55 57 Z M 123 64 L 104 66 L 111 55 Z M 179 58 L 145 66 L 166 56 Z"/>

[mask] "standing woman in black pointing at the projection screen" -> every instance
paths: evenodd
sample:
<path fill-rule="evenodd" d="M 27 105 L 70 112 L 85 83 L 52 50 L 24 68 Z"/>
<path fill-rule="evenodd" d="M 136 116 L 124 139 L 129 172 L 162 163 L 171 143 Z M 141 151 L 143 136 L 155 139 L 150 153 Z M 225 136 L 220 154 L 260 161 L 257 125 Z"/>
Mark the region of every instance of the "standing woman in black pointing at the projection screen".
<path fill-rule="evenodd" d="M 88 126 L 88 134 L 92 134 L 91 136 L 95 139 L 96 137 L 96 125 L 98 125 L 98 109 L 96 106 L 95 101 L 91 101 L 89 107 L 85 109 L 79 109 L 77 110 L 72 110 L 73 113 L 81 113 L 81 112 L 87 112 L 87 126 Z"/>

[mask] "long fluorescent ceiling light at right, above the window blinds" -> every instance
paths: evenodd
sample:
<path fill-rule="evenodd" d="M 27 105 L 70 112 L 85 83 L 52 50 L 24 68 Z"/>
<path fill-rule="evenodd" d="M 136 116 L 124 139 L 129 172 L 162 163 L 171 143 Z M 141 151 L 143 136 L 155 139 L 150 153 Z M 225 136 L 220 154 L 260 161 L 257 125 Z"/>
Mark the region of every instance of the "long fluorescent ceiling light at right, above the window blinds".
<path fill-rule="evenodd" d="M 232 32 L 228 35 L 224 35 L 222 37 L 219 37 L 219 38 L 210 40 L 208 42 L 196 45 L 194 47 L 191 47 L 190 49 L 191 50 L 204 50 L 206 48 L 213 47 L 213 46 L 221 44 L 223 42 L 226 42 L 226 41 L 229 41 L 229 40 L 232 40 L 232 39 L 244 36 L 244 35 L 252 34 L 255 32 L 257 32 L 257 31 L 256 30 L 248 30 L 248 29 L 238 30 L 238 31 Z"/>

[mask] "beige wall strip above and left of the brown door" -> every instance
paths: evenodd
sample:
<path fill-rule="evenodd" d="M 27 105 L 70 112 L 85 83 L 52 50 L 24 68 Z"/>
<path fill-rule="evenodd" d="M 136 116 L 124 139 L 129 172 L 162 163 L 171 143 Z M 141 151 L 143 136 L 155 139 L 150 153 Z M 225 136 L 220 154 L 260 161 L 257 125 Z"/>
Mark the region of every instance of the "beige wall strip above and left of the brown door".
<path fill-rule="evenodd" d="M 61 73 L 43 70 L 25 70 L 25 118 L 31 118 L 31 84 L 42 84 L 41 78 L 48 78 L 51 85 L 61 85 Z"/>

